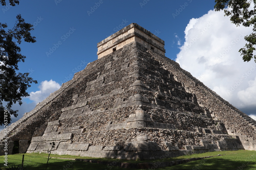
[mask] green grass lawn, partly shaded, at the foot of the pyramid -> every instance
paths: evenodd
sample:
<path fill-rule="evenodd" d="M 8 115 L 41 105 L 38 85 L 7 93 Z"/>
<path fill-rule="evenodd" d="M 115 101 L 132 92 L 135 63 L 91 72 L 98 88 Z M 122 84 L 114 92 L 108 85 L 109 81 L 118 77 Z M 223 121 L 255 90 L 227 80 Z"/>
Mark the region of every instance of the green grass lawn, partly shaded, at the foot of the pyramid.
<path fill-rule="evenodd" d="M 149 160 L 149 161 L 127 161 L 127 160 L 115 160 L 115 159 L 105 159 L 105 158 L 89 158 L 89 157 L 80 157 L 80 156 L 71 156 L 71 155 L 54 155 L 51 154 L 51 157 L 58 158 L 77 158 L 77 159 L 89 159 L 89 160 L 99 160 L 99 161 L 117 161 L 117 162 L 130 162 L 130 163 L 142 163 L 142 162 L 167 162 L 174 160 L 181 160 L 187 158 L 197 158 L 204 156 L 213 156 L 222 154 L 223 156 L 216 156 L 212 158 L 202 159 L 199 161 L 192 161 L 186 164 L 180 164 L 175 166 L 169 166 L 162 169 L 218 169 L 218 170 L 226 170 L 226 169 L 239 169 L 239 170 L 247 170 L 247 169 L 256 169 L 256 151 L 247 151 L 247 150 L 239 150 L 239 151 L 218 151 L 218 152 L 206 152 L 201 154 L 193 154 L 193 155 L 185 155 L 179 156 L 171 159 L 164 160 Z M 225 155 L 224 155 L 225 154 Z M 24 157 L 24 167 L 27 170 L 45 170 L 47 158 L 44 156 L 48 156 L 48 154 L 25 154 Z M 3 166 L 3 156 L 0 156 L 0 169 L 5 169 Z M 22 160 L 22 154 L 14 154 L 8 155 L 8 166 L 21 165 L 20 161 Z M 30 162 L 29 162 L 30 161 Z M 35 163 L 38 162 L 38 163 Z M 112 170 L 112 169 L 124 169 L 120 167 L 110 166 L 110 165 L 101 165 L 101 164 L 93 164 L 87 162 L 73 161 L 73 160 L 63 160 L 52 158 L 49 160 L 47 169 L 103 169 L 103 170 Z M 148 168 L 147 168 L 148 169 Z M 150 169 L 155 169 L 154 167 Z M 129 170 L 129 169 L 127 169 Z"/>

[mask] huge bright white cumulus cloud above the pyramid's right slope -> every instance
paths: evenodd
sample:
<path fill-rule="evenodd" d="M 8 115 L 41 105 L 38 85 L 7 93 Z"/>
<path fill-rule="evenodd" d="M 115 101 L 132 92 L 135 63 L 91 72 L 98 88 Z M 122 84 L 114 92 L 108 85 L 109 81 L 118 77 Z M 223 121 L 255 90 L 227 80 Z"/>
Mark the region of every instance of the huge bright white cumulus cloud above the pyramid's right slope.
<path fill-rule="evenodd" d="M 180 67 L 239 109 L 256 109 L 256 63 L 243 62 L 238 52 L 252 27 L 236 27 L 223 11 L 210 10 L 192 18 L 184 32 Z"/>

